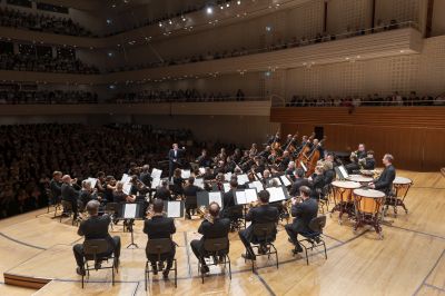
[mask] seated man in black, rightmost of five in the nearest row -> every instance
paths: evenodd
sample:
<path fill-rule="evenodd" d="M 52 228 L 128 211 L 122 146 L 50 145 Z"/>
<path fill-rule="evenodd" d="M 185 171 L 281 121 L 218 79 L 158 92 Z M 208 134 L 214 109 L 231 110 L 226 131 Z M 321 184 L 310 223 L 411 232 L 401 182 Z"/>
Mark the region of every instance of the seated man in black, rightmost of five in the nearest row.
<path fill-rule="evenodd" d="M 298 234 L 305 235 L 310 233 L 310 220 L 316 218 L 318 214 L 318 203 L 314 198 L 310 198 L 309 194 L 309 187 L 300 187 L 299 195 L 301 197 L 301 201 L 299 203 L 295 197 L 291 201 L 291 216 L 295 217 L 294 221 L 285 226 L 290 243 L 295 245 L 295 249 L 293 250 L 294 254 L 303 251 L 303 248 L 297 239 Z"/>

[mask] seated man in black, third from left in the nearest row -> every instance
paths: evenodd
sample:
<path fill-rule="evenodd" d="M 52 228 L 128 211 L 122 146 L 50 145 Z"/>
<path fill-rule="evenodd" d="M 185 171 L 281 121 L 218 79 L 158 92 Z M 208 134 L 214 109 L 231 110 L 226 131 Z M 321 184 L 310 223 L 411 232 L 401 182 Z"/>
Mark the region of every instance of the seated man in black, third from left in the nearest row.
<path fill-rule="evenodd" d="M 204 241 L 207 238 L 226 237 L 228 239 L 228 234 L 230 229 L 230 220 L 227 218 L 219 218 L 220 208 L 217 203 L 211 203 L 208 210 L 209 215 L 205 217 L 205 220 L 198 228 L 198 233 L 202 235 L 201 239 L 194 239 L 190 241 L 191 250 L 202 265 L 202 274 L 207 274 L 209 272 L 209 268 L 206 265 L 206 260 L 204 259 L 207 255 L 204 250 Z M 227 253 L 229 253 L 229 249 L 227 249 Z"/>

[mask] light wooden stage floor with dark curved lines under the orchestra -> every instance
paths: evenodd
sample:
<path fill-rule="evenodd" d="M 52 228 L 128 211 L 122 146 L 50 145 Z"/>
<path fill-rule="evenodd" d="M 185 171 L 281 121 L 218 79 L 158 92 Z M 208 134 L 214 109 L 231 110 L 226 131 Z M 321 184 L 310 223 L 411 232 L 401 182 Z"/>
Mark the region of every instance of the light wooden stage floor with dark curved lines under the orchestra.
<path fill-rule="evenodd" d="M 202 285 L 189 247 L 190 240 L 199 237 L 200 220 L 177 219 L 178 287 L 172 280 L 156 278 L 147 293 L 147 238 L 140 221 L 135 230 L 139 248 L 126 248 L 130 235 L 122 233 L 121 226 L 112 231 L 122 239 L 116 285 L 111 286 L 111 272 L 92 272 L 82 290 L 72 256 L 72 245 L 81 238 L 69 220 L 60 224 L 46 209 L 1 220 L 0 295 L 445 295 L 445 178 L 441 172 L 397 175 L 414 180 L 406 198 L 409 213 L 399 209 L 395 218 L 389 210 L 394 223 L 383 226 L 384 239 L 372 229 L 354 234 L 346 218 L 339 225 L 338 214 L 328 215 L 328 259 L 316 250 L 309 266 L 301 257 L 293 257 L 280 225 L 278 269 L 273 257 L 259 258 L 254 274 L 249 262 L 245 264 L 240 257 L 244 248 L 237 234 L 230 234 L 233 279 L 215 267 Z M 4 284 L 4 278 L 20 287 Z"/>

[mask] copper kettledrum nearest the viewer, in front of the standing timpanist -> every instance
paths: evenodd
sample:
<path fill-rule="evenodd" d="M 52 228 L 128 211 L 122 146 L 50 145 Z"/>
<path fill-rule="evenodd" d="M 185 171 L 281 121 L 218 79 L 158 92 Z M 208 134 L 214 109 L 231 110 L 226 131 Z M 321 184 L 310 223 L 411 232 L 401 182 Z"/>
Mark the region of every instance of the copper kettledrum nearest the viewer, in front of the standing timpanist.
<path fill-rule="evenodd" d="M 354 205 L 356 213 L 356 224 L 354 231 L 364 225 L 370 225 L 375 228 L 379 238 L 383 239 L 382 234 L 382 215 L 383 203 L 385 194 L 374 189 L 355 189 L 354 190 Z"/>

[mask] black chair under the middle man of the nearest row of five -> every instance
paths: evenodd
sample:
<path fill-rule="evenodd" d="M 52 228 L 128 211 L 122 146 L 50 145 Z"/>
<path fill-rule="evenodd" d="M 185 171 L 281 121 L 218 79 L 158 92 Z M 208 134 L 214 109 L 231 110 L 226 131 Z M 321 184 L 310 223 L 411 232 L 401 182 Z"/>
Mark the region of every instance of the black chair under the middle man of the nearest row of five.
<path fill-rule="evenodd" d="M 227 264 L 229 265 L 229 278 L 231 279 L 231 265 L 229 258 L 229 239 L 228 237 L 218 237 L 218 238 L 207 238 L 204 240 L 204 251 L 206 256 L 202 258 L 206 260 L 207 266 L 216 266 L 222 265 L 224 269 L 226 269 Z M 209 259 L 206 259 L 206 258 Z M 222 262 L 220 259 L 222 258 Z M 212 259 L 212 262 L 211 262 Z M 205 274 L 201 273 L 201 260 L 198 262 L 198 274 L 201 274 L 201 280 L 204 284 Z"/>

